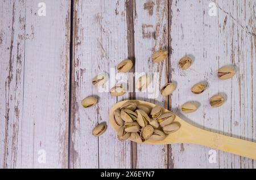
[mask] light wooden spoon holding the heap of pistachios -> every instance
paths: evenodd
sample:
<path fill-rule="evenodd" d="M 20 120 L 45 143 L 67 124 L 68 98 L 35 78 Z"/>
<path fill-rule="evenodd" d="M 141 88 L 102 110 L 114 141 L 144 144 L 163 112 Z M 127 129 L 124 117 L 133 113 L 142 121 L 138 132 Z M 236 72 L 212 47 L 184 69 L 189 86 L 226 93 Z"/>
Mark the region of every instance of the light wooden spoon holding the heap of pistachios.
<path fill-rule="evenodd" d="M 147 105 L 150 108 L 154 108 L 155 104 L 146 101 L 129 100 L 136 102 L 137 105 Z M 118 102 L 113 106 L 109 114 L 110 125 L 114 128 L 114 131 L 118 131 L 118 126 L 115 124 L 113 119 L 114 110 L 120 108 L 125 102 Z M 170 112 L 163 108 L 163 113 Z M 240 155 L 256 160 L 256 143 L 249 142 L 247 140 L 232 138 L 230 136 L 225 136 L 217 134 L 210 131 L 202 130 L 201 128 L 190 125 L 183 119 L 176 115 L 174 122 L 180 123 L 180 129 L 172 134 L 166 136 L 166 139 L 162 141 L 156 140 L 146 140 L 143 144 L 175 144 L 175 143 L 189 143 L 189 144 L 199 144 L 204 145 L 213 149 L 218 149 L 221 151 L 233 153 L 235 155 Z"/>

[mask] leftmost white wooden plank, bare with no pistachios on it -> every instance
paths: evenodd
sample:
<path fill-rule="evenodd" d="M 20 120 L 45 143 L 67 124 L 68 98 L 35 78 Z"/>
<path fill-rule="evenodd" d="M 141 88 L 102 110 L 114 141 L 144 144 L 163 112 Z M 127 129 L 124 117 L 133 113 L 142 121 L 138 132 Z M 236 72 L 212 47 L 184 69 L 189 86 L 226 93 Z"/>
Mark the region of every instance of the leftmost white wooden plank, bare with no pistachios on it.
<path fill-rule="evenodd" d="M 1 86 L 1 91 L 6 89 L 6 95 L 1 94 L 5 108 L 0 111 L 3 168 L 67 168 L 68 164 L 70 5 L 44 1 L 47 14 L 39 16 L 39 2 L 1 5 L 5 20 L 1 24 L 6 26 L 1 27 L 1 57 L 5 57 L 1 84 L 6 82 Z"/>

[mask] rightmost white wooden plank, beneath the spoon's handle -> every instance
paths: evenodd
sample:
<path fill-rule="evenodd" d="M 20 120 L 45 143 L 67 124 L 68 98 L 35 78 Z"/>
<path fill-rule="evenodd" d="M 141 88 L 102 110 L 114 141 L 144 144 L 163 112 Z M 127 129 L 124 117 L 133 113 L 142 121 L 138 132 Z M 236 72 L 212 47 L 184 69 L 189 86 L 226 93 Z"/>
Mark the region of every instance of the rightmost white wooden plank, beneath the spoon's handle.
<path fill-rule="evenodd" d="M 211 1 L 176 1 L 172 3 L 170 40 L 172 79 L 178 82 L 172 96 L 175 113 L 196 126 L 237 138 L 256 140 L 255 136 L 255 15 L 254 1 L 218 1 L 217 16 L 209 16 Z M 254 20 L 253 20 L 254 19 Z M 246 28 L 247 27 L 247 28 Z M 192 55 L 194 62 L 181 71 L 177 62 Z M 218 68 L 232 65 L 237 74 L 232 80 L 217 78 Z M 193 84 L 206 81 L 208 89 L 192 95 Z M 213 109 L 209 98 L 222 93 L 225 105 Z M 200 109 L 183 115 L 180 106 L 198 101 Z M 172 145 L 170 159 L 174 168 L 253 168 L 255 162 L 217 151 L 217 163 L 208 161 L 210 148 L 192 144 Z"/>

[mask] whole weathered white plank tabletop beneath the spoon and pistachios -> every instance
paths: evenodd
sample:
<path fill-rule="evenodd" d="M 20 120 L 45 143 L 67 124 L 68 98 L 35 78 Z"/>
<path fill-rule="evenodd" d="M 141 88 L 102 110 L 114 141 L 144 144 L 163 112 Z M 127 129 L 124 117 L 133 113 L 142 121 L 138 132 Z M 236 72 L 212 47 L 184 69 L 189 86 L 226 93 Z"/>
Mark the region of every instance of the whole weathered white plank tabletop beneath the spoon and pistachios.
<path fill-rule="evenodd" d="M 91 135 L 97 122 L 108 122 L 112 105 L 137 98 L 206 130 L 256 141 L 256 1 L 211 2 L 1 0 L 0 168 L 255 168 L 253 160 L 220 151 L 209 163 L 212 151 L 199 145 L 119 142 L 110 127 L 100 138 Z M 170 55 L 155 64 L 151 54 L 160 48 Z M 194 59 L 187 71 L 177 65 L 184 55 Z M 98 93 L 91 79 L 128 57 L 133 72 L 159 72 L 161 86 L 176 82 L 174 94 L 148 100 Z M 225 65 L 237 74 L 220 81 L 216 72 Z M 201 81 L 207 91 L 192 95 Z M 225 105 L 210 108 L 217 93 Z M 91 95 L 97 106 L 82 108 Z M 190 100 L 200 109 L 181 114 Z"/>

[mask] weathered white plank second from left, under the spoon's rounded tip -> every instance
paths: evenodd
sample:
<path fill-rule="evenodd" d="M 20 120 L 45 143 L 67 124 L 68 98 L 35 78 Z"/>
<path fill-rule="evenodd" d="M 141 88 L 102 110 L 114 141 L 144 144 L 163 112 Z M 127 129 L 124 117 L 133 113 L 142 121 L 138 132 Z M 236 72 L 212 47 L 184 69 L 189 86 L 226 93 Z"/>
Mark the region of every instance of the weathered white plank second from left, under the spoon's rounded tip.
<path fill-rule="evenodd" d="M 112 105 L 128 98 L 128 94 L 116 98 L 109 91 L 98 92 L 91 82 L 100 72 L 115 72 L 115 66 L 127 58 L 125 2 L 75 1 L 74 9 L 71 168 L 130 168 L 130 142 L 119 142 L 111 127 L 99 138 L 92 136 L 97 123 L 108 123 Z M 92 95 L 98 104 L 82 108 L 82 98 Z"/>

